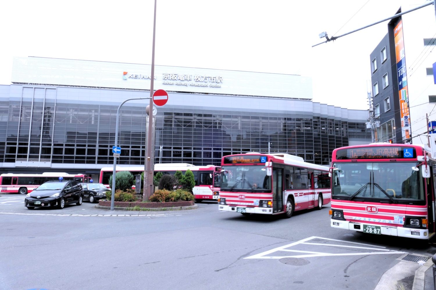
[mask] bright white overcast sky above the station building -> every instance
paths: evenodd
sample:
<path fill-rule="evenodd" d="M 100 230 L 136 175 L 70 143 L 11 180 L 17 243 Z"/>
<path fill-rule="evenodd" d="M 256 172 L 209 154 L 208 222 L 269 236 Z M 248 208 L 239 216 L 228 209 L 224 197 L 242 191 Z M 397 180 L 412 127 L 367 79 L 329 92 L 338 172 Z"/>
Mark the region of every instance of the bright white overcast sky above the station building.
<path fill-rule="evenodd" d="M 157 0 L 155 64 L 312 77 L 313 101 L 368 109 L 369 54 L 387 23 L 317 47 L 428 0 Z M 153 0 L 6 1 L 0 84 L 12 58 L 151 64 Z M 433 5 L 422 9 L 433 9 Z M 413 12 L 412 12 L 413 13 Z M 407 49 L 407 47 L 406 47 Z M 156 88 L 157 89 L 157 88 Z"/>

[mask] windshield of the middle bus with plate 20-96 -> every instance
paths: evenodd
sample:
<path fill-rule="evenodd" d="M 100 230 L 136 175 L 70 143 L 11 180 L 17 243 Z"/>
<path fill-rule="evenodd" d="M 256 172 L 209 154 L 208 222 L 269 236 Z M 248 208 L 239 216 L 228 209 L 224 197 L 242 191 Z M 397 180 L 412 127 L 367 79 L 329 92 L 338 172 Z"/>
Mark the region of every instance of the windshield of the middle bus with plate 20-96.
<path fill-rule="evenodd" d="M 271 191 L 271 177 L 264 165 L 223 166 L 220 183 L 223 191 Z"/>

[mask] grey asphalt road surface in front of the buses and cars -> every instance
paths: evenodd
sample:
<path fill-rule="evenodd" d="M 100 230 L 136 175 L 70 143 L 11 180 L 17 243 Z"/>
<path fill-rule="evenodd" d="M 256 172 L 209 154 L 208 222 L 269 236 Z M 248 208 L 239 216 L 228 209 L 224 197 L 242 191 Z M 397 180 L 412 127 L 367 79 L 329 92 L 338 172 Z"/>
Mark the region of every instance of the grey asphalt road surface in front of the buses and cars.
<path fill-rule="evenodd" d="M 111 212 L 88 202 L 27 210 L 23 200 L 0 197 L 0 289 L 372 290 L 405 253 L 436 252 L 333 229 L 328 205 L 283 219 L 220 212 L 214 202 Z"/>

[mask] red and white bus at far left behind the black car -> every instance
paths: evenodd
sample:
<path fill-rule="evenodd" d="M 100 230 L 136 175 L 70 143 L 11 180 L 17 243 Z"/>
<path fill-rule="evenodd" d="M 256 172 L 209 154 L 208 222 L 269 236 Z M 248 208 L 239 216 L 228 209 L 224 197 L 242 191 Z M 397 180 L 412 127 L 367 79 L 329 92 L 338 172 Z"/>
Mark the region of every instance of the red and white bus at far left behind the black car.
<path fill-rule="evenodd" d="M 27 194 L 42 183 L 49 180 L 75 180 L 88 182 L 85 174 L 68 174 L 65 172 L 44 172 L 42 174 L 14 174 L 3 173 L 0 175 L 0 192 Z"/>

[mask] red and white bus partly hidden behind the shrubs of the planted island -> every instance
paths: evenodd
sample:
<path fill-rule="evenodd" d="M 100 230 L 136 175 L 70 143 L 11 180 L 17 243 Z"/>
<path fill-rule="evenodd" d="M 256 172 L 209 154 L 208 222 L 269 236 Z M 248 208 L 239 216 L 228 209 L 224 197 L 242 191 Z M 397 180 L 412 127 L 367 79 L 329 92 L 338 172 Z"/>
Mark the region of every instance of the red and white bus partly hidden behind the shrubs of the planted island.
<path fill-rule="evenodd" d="M 218 200 L 219 197 L 219 170 L 220 167 L 215 165 L 195 166 L 189 163 L 156 163 L 154 164 L 154 174 L 162 172 L 165 174 L 174 175 L 176 171 L 181 171 L 183 174 L 186 170 L 191 170 L 194 173 L 195 186 L 192 189 L 195 199 L 201 200 Z M 133 175 L 144 172 L 144 167 L 116 167 L 116 171 L 129 171 Z M 100 183 L 106 187 L 109 186 L 109 177 L 113 174 L 113 167 L 103 167 L 100 171 Z"/>

